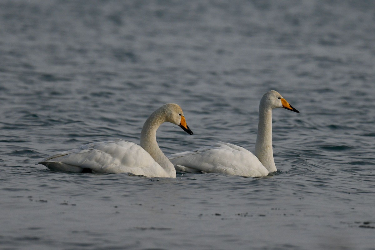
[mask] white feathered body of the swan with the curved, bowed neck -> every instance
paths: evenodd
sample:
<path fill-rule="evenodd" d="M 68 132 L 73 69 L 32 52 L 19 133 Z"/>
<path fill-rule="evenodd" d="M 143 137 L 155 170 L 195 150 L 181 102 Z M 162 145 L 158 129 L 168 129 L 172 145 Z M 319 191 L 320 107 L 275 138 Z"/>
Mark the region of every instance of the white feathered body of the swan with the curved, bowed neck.
<path fill-rule="evenodd" d="M 55 171 L 82 172 L 89 168 L 96 173 L 169 177 L 142 147 L 121 139 L 82 145 L 78 149 L 48 156 L 40 164 Z"/>

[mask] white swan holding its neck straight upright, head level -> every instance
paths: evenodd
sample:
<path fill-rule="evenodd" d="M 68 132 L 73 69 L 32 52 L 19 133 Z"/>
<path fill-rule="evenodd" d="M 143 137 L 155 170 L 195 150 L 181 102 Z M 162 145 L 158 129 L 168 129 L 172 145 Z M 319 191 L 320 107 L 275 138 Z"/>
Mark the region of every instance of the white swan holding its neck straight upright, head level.
<path fill-rule="evenodd" d="M 243 147 L 219 141 L 198 150 L 171 154 L 168 158 L 177 171 L 248 177 L 267 176 L 270 172 L 277 171 L 272 151 L 272 109 L 274 108 L 285 108 L 299 113 L 275 90 L 264 94 L 259 105 L 255 155 Z"/>

